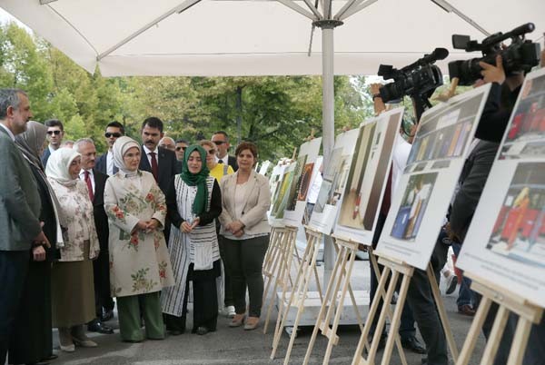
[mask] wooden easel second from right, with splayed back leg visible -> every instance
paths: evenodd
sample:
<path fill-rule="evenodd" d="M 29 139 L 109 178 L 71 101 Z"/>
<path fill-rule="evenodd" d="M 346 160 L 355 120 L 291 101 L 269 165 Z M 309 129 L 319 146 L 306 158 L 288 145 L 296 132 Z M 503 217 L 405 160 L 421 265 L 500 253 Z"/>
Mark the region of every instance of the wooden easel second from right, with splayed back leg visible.
<path fill-rule="evenodd" d="M 393 297 L 393 292 L 396 290 L 397 283 L 401 279 L 401 289 L 399 291 L 398 301 L 395 305 L 395 310 L 393 311 L 393 316 L 391 318 L 391 325 L 390 325 L 390 331 L 388 333 L 388 340 L 386 340 L 386 346 L 384 348 L 384 353 L 382 354 L 382 360 L 381 360 L 382 365 L 387 365 L 390 363 L 390 360 L 391 360 L 393 342 L 394 340 L 397 339 L 397 336 L 398 336 L 398 330 L 401 323 L 401 311 L 403 310 L 403 305 L 405 304 L 405 300 L 407 299 L 407 291 L 409 290 L 409 284 L 411 282 L 411 277 L 414 272 L 414 267 L 408 265 L 405 262 L 395 261 L 386 257 L 380 257 L 379 263 L 381 263 L 384 266 L 384 270 L 381 273 L 381 279 L 379 281 L 377 291 L 382 292 L 384 290 L 384 288 L 386 287 L 386 281 L 388 281 L 388 278 L 390 277 L 390 274 L 391 274 L 390 284 L 388 285 L 388 291 L 386 291 L 386 295 L 385 297 L 383 297 L 384 303 L 391 302 L 391 298 Z M 378 267 L 376 267 L 376 269 L 378 269 Z M 378 272 L 378 270 L 376 272 Z M 447 343 L 451 350 L 452 358 L 454 359 L 454 361 L 457 361 L 458 348 L 456 347 L 456 342 L 454 341 L 454 337 L 452 336 L 451 326 L 449 324 L 446 311 L 442 303 L 441 293 L 439 292 L 437 281 L 435 280 L 435 276 L 433 275 L 431 264 L 428 265 L 428 269 L 426 270 L 426 273 L 428 275 L 428 279 L 430 280 L 431 291 L 433 293 L 433 297 L 440 314 L 441 323 L 445 332 Z M 356 353 L 354 354 L 352 365 L 364 365 L 364 364 L 375 363 L 375 358 L 376 358 L 377 350 L 379 347 L 379 341 L 381 340 L 380 336 L 373 337 L 371 349 L 369 350 L 367 359 L 362 358 L 362 351 L 365 346 L 365 343 L 367 342 L 367 337 L 369 336 L 372 322 L 375 318 L 375 315 L 377 314 L 376 312 L 378 310 L 381 297 L 382 295 L 376 295 L 374 300 L 372 301 L 372 305 L 369 310 L 369 316 L 367 318 L 367 321 L 365 322 L 365 327 L 363 329 L 362 337 L 360 338 L 360 341 L 358 343 L 358 348 L 356 350 Z M 379 321 L 377 322 L 375 333 L 382 333 L 385 322 L 386 322 L 386 316 L 388 311 L 389 311 L 388 305 L 387 304 L 382 305 L 382 310 L 379 316 Z"/>

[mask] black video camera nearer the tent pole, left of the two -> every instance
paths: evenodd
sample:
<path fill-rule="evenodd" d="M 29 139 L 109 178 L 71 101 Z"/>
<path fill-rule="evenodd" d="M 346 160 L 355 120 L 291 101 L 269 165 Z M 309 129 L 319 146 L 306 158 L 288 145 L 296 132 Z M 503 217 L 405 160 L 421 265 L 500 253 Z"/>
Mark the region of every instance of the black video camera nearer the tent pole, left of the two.
<path fill-rule="evenodd" d="M 379 76 L 385 80 L 393 79 L 393 83 L 385 84 L 380 89 L 384 103 L 411 96 L 416 109 L 417 120 L 421 113 L 431 107 L 429 98 L 435 89 L 443 84 L 441 70 L 434 63 L 445 59 L 449 51 L 435 48 L 431 54 L 425 54 L 420 60 L 398 70 L 389 64 L 381 64 Z"/>

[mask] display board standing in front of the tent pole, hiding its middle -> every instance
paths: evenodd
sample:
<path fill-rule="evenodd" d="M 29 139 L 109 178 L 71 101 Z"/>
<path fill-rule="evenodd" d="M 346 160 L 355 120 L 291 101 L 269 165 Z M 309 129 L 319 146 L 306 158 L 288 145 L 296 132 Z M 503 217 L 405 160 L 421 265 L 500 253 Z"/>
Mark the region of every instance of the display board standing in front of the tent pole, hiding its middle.
<path fill-rule="evenodd" d="M 359 133 L 360 128 L 356 128 L 337 136 L 329 164 L 323 172 L 322 186 L 309 223 L 323 234 L 332 233 Z"/>

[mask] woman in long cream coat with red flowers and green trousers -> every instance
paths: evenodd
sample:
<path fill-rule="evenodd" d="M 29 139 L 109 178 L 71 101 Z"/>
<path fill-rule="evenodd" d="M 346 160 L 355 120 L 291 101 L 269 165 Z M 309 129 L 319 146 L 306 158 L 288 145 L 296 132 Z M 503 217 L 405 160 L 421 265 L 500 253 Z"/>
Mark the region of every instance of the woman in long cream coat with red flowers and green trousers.
<path fill-rule="evenodd" d="M 129 137 L 115 141 L 119 172 L 106 181 L 104 209 L 110 223 L 110 283 L 117 297 L 124 341 L 162 340 L 159 294 L 173 285 L 173 271 L 163 236 L 166 205 L 154 175 L 138 170 L 140 145 Z"/>

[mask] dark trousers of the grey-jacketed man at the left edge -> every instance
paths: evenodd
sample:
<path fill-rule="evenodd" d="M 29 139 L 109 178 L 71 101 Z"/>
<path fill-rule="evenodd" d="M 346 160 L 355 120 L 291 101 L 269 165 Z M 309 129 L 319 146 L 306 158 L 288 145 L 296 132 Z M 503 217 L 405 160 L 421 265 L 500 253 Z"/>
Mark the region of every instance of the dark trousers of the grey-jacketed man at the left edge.
<path fill-rule="evenodd" d="M 0 364 L 5 363 L 9 340 L 28 272 L 26 251 L 0 251 Z"/>

